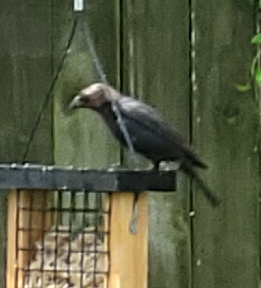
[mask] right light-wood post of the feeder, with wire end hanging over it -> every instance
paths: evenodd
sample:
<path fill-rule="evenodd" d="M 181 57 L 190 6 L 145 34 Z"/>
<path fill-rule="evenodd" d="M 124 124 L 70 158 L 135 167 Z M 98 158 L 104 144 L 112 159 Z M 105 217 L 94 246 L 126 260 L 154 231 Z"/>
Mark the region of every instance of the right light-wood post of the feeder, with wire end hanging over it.
<path fill-rule="evenodd" d="M 134 197 L 134 193 L 112 194 L 109 288 L 147 288 L 147 195 L 138 198 L 137 234 L 129 229 Z"/>

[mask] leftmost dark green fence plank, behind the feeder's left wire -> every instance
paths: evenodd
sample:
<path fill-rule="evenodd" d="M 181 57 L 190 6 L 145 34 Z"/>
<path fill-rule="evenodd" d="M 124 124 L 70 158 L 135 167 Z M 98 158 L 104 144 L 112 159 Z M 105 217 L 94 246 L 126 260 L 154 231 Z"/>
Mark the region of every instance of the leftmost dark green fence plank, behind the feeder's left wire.
<path fill-rule="evenodd" d="M 21 161 L 51 82 L 51 1 L 0 1 L 0 161 Z M 52 163 L 51 103 L 27 161 Z M 0 282 L 5 282 L 6 196 L 0 192 Z"/>

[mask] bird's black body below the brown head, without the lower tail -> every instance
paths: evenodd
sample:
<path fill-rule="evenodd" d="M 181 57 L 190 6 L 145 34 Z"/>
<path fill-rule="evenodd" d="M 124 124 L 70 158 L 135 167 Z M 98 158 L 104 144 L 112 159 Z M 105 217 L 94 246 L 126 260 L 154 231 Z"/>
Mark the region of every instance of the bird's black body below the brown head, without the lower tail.
<path fill-rule="evenodd" d="M 134 150 L 152 160 L 156 167 L 163 160 L 187 162 L 201 168 L 207 167 L 185 148 L 180 136 L 168 127 L 150 106 L 126 96 L 122 96 L 117 104 Z M 118 141 L 128 148 L 112 105 L 113 103 L 105 103 L 97 112 L 104 118 Z"/>

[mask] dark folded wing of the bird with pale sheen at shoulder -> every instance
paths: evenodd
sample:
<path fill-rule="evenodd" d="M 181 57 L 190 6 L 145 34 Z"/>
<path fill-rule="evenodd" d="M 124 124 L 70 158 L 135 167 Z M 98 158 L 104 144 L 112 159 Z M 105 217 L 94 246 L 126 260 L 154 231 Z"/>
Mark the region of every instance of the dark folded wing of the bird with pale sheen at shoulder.
<path fill-rule="evenodd" d="M 207 167 L 187 148 L 185 141 L 163 120 L 154 108 L 126 96 L 118 100 L 118 107 L 132 138 L 137 140 L 137 152 L 148 153 L 147 156 L 151 159 L 153 156 L 155 158 L 162 156 L 165 160 L 172 159 L 174 161 L 185 160 L 186 158 L 195 166 Z M 144 149 L 147 149 L 146 153 L 144 153 Z M 162 155 L 159 155 L 161 153 Z M 152 157 L 150 157 L 150 154 Z"/>

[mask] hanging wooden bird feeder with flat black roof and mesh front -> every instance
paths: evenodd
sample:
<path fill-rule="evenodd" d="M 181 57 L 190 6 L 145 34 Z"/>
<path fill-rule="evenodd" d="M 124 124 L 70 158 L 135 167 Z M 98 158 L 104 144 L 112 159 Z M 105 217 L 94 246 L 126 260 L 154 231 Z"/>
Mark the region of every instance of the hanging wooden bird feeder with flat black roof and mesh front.
<path fill-rule="evenodd" d="M 171 171 L 0 165 L 0 189 L 10 189 L 6 288 L 146 288 L 148 218 L 142 191 L 175 187 Z"/>

